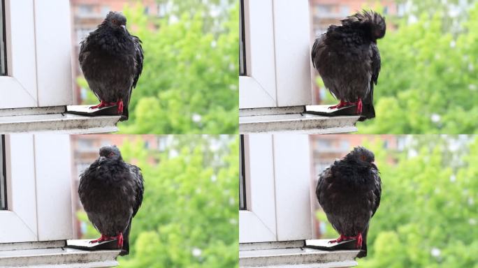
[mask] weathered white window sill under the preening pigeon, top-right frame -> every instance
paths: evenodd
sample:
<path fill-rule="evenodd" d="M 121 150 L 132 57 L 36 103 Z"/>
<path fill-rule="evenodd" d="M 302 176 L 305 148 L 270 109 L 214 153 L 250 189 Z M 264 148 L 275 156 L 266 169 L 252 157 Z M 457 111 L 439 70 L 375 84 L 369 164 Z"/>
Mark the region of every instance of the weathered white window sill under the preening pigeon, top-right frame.
<path fill-rule="evenodd" d="M 304 106 L 241 109 L 239 131 L 240 133 L 349 133 L 357 131 L 355 124 L 358 120 L 359 116 L 324 117 L 305 114 Z"/>

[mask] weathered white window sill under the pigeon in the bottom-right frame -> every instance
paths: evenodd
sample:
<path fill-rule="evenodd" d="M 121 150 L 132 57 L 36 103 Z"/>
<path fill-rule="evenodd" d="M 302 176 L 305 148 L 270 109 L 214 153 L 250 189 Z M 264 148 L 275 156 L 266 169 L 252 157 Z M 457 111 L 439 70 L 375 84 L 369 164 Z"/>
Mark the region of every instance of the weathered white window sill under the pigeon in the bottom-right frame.
<path fill-rule="evenodd" d="M 321 251 L 304 248 L 304 241 L 240 244 L 240 267 L 352 267 L 359 251 Z"/>

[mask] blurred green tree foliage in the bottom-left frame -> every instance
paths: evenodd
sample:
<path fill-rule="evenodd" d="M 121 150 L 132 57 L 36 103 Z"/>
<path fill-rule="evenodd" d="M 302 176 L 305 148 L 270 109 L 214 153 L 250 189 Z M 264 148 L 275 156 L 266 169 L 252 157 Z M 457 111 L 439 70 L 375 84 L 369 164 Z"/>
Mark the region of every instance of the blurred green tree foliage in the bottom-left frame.
<path fill-rule="evenodd" d="M 238 138 L 169 136 L 158 153 L 126 142 L 125 161 L 145 178 L 143 206 L 133 220 L 131 252 L 122 267 L 238 266 Z M 85 214 L 80 214 L 83 221 Z M 89 237 L 99 234 L 88 227 Z"/>

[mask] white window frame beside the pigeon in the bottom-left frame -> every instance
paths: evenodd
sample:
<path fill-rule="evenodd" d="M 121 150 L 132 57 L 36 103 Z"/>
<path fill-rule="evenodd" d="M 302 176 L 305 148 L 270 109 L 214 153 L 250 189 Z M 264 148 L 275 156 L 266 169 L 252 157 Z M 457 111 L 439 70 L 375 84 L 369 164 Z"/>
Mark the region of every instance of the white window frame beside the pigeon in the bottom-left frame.
<path fill-rule="evenodd" d="M 73 237 L 68 135 L 6 135 L 7 209 L 0 243 Z"/>

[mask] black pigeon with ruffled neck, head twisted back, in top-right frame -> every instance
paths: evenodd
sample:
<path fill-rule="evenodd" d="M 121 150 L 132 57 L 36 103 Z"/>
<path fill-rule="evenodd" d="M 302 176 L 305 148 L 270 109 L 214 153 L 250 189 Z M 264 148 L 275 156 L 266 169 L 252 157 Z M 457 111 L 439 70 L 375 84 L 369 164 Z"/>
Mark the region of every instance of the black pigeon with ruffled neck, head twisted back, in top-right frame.
<path fill-rule="evenodd" d="M 377 39 L 385 31 L 384 17 L 363 10 L 342 20 L 340 26 L 331 25 L 315 40 L 312 64 L 340 101 L 329 109 L 357 105 L 361 121 L 375 117 L 373 87 L 380 71 Z"/>

